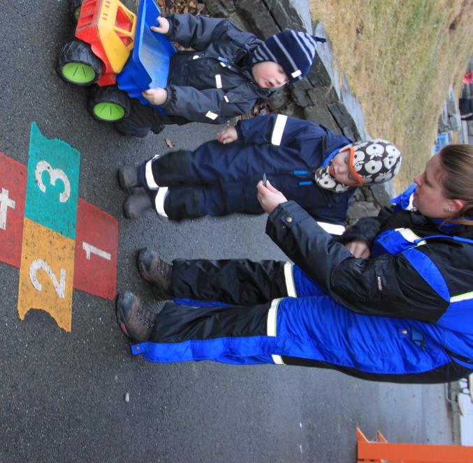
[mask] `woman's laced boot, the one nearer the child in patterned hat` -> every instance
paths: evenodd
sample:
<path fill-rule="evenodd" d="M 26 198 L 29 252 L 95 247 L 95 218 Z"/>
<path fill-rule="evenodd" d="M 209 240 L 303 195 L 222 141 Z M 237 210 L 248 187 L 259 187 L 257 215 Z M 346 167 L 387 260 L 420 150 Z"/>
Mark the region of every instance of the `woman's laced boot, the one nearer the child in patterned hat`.
<path fill-rule="evenodd" d="M 171 275 L 173 265 L 163 261 L 156 250 L 143 248 L 138 253 L 138 271 L 145 280 L 152 283 L 154 294 L 161 301 L 173 297 Z"/>

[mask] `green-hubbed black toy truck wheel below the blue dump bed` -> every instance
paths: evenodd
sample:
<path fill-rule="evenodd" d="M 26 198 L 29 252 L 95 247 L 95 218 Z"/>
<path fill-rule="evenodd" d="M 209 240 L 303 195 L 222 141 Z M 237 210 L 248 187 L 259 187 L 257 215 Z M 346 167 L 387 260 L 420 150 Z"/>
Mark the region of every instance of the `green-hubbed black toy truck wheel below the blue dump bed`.
<path fill-rule="evenodd" d="M 92 89 L 89 96 L 89 112 L 102 122 L 118 122 L 130 114 L 129 96 L 115 85 Z"/>

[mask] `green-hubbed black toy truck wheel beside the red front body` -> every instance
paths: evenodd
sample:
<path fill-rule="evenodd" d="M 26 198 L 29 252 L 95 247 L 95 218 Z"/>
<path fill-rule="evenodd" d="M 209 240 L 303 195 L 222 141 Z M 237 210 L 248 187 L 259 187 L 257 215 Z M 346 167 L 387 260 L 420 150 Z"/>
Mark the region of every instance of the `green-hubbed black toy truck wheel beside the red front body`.
<path fill-rule="evenodd" d="M 96 56 L 88 43 L 73 40 L 62 47 L 57 62 L 57 73 L 66 82 L 87 86 L 100 79 L 103 63 Z"/>

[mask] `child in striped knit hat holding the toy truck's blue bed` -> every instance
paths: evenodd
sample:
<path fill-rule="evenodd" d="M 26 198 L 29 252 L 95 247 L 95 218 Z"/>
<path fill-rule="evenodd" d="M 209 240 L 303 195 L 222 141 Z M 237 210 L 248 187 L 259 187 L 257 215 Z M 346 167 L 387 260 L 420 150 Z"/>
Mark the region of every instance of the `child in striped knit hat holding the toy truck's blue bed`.
<path fill-rule="evenodd" d="M 158 22 L 154 32 L 195 52 L 171 56 L 166 89 L 143 92 L 167 116 L 132 98 L 129 116 L 115 124 L 124 135 L 145 137 L 150 130 L 159 133 L 163 124 L 219 124 L 246 114 L 286 82 L 305 77 L 316 42 L 325 41 L 287 30 L 263 42 L 228 20 L 203 16 L 169 15 Z"/>

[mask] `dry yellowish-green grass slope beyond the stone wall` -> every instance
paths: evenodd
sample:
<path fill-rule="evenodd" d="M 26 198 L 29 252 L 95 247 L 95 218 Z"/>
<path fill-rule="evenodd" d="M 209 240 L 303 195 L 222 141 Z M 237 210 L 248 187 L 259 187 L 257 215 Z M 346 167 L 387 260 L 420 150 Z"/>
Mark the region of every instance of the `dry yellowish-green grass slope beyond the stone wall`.
<path fill-rule="evenodd" d="M 449 86 L 473 54 L 473 0 L 310 0 L 372 137 L 404 154 L 395 187 L 422 172 Z"/>

